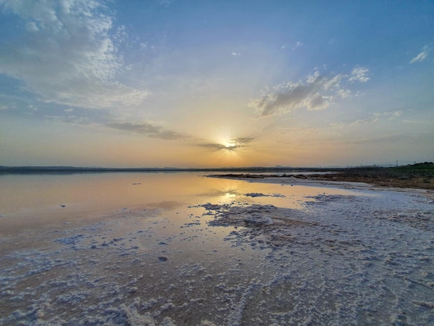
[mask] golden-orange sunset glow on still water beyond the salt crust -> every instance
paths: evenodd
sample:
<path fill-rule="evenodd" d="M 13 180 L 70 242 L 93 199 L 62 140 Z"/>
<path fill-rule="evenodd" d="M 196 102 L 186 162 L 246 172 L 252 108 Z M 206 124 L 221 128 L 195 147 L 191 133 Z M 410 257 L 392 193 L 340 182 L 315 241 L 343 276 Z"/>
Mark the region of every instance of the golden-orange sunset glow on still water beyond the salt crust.
<path fill-rule="evenodd" d="M 351 194 L 344 189 L 206 178 L 181 173 L 95 173 L 1 175 L 0 215 L 37 218 L 114 209 L 174 209 L 199 203 L 261 203 L 302 208 L 318 194 Z M 258 193 L 266 196 L 245 196 Z"/>

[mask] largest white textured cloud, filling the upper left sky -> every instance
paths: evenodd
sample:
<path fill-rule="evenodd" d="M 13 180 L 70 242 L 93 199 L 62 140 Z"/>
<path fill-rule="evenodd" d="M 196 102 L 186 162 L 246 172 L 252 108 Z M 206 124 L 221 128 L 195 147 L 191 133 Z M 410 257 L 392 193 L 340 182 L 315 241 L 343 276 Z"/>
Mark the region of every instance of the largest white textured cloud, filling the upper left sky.
<path fill-rule="evenodd" d="M 112 13 L 97 0 L 3 1 L 21 19 L 19 37 L 0 46 L 0 74 L 22 80 L 41 101 L 81 108 L 137 105 L 150 92 L 116 82 L 125 71 Z M 20 25 L 19 25 L 20 26 Z"/>

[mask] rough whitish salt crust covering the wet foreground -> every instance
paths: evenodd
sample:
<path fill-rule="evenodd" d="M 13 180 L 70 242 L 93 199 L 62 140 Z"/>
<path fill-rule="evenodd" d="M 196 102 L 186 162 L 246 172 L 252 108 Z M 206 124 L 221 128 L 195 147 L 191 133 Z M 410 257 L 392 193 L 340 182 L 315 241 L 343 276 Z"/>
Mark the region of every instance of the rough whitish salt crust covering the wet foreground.
<path fill-rule="evenodd" d="M 40 234 L 0 258 L 0 325 L 433 325 L 433 200 L 358 191 Z"/>

